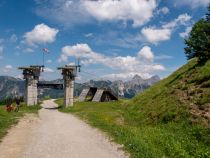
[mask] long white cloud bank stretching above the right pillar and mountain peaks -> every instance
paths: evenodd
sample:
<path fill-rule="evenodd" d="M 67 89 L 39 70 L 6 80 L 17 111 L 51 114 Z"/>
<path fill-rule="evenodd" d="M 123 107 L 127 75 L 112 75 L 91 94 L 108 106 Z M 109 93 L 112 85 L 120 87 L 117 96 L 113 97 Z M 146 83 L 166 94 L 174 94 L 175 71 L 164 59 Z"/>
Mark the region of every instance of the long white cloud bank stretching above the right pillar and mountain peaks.
<path fill-rule="evenodd" d="M 154 54 L 150 47 L 143 47 L 136 56 L 106 56 L 94 52 L 87 44 L 65 46 L 60 55 L 60 62 L 67 62 L 69 57 L 80 57 L 83 65 L 101 64 L 119 74 L 141 74 L 149 76 L 157 71 L 164 71 L 165 67 L 154 63 Z"/>

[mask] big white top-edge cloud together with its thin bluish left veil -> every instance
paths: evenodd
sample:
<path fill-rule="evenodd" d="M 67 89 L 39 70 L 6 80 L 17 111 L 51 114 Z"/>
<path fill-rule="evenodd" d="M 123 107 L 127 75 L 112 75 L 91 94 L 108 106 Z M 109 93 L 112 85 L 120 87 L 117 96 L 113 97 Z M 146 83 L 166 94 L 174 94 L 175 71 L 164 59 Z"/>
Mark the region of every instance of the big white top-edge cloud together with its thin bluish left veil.
<path fill-rule="evenodd" d="M 64 25 L 96 19 L 123 22 L 130 20 L 137 27 L 152 18 L 156 7 L 156 0 L 49 0 L 48 3 L 38 3 L 36 13 Z"/>

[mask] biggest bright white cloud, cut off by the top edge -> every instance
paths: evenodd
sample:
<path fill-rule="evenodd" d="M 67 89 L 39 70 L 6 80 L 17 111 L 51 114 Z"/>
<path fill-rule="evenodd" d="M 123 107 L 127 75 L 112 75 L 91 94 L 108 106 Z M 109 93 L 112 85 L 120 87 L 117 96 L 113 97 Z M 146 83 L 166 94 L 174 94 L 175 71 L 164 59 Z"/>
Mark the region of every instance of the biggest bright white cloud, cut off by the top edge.
<path fill-rule="evenodd" d="M 99 21 L 132 20 L 133 26 L 141 26 L 153 16 L 157 3 L 156 0 L 87 0 L 83 5 Z"/>

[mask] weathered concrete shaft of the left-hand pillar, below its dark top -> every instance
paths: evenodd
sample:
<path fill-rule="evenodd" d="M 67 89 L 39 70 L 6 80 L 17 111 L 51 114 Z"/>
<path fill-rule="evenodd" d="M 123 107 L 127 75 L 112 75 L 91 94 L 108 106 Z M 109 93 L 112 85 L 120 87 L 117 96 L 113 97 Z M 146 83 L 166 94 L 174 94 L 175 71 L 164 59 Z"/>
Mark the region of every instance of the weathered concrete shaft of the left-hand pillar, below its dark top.
<path fill-rule="evenodd" d="M 28 106 L 37 104 L 37 82 L 38 80 L 33 78 L 26 79 L 25 102 Z"/>

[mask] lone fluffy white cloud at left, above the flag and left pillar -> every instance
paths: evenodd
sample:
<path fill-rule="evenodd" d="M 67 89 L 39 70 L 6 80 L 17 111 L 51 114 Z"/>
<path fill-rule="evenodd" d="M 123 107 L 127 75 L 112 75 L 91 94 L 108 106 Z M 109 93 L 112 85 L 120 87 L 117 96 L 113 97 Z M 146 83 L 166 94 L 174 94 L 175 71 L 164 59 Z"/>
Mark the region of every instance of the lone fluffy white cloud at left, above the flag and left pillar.
<path fill-rule="evenodd" d="M 38 24 L 30 32 L 25 33 L 25 42 L 31 46 L 37 44 L 52 43 L 56 39 L 56 35 L 59 31 L 51 28 L 45 24 Z"/>

